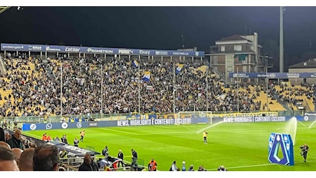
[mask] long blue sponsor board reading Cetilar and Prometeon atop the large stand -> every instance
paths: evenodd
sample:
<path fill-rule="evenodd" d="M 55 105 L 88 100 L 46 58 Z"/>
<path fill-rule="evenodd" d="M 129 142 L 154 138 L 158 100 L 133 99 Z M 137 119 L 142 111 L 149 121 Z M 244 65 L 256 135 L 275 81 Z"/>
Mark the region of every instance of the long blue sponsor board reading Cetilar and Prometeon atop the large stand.
<path fill-rule="evenodd" d="M 204 51 L 165 51 L 154 49 L 117 49 L 102 47 L 68 47 L 41 44 L 8 44 L 1 43 L 1 51 L 42 51 L 52 53 L 93 53 L 117 55 L 154 55 L 154 56 L 187 56 L 204 57 Z"/>

